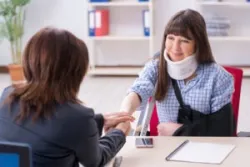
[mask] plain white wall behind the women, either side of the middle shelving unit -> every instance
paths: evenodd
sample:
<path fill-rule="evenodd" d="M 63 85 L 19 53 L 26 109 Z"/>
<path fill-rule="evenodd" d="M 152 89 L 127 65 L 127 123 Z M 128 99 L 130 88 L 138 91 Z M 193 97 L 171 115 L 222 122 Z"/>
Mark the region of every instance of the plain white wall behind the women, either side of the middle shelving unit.
<path fill-rule="evenodd" d="M 194 0 L 155 0 L 155 50 L 169 17 L 183 8 L 193 8 Z M 27 10 L 24 44 L 44 26 L 56 26 L 73 32 L 81 39 L 87 35 L 87 0 L 32 0 Z M 11 62 L 7 41 L 0 44 L 0 65 Z"/>

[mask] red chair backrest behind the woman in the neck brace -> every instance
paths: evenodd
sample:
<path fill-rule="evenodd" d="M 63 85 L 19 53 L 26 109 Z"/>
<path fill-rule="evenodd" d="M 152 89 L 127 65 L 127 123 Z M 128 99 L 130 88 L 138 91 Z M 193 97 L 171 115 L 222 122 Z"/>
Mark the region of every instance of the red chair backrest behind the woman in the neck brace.
<path fill-rule="evenodd" d="M 234 119 L 236 123 L 236 132 L 237 132 L 237 125 L 238 125 L 238 114 L 239 114 L 239 105 L 240 105 L 240 93 L 241 93 L 241 85 L 242 85 L 242 78 L 243 78 L 243 71 L 242 69 L 224 66 L 224 68 L 233 75 L 234 77 L 234 93 L 232 98 L 232 106 L 234 110 Z M 150 120 L 150 135 L 157 136 L 157 125 L 158 125 L 158 115 L 156 106 L 154 106 L 154 110 L 152 113 L 152 117 Z M 235 132 L 235 135 L 236 135 Z"/>

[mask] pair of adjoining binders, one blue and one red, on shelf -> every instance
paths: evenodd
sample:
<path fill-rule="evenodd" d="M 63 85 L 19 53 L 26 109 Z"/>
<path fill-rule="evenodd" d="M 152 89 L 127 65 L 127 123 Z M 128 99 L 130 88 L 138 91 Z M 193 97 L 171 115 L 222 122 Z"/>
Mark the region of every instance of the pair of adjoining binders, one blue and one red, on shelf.
<path fill-rule="evenodd" d="M 109 11 L 106 9 L 89 11 L 89 36 L 109 34 Z"/>

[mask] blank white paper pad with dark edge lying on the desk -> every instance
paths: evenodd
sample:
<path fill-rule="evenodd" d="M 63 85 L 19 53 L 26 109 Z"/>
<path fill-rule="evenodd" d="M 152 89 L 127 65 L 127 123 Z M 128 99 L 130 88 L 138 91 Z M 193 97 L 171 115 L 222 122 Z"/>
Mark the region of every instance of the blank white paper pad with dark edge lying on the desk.
<path fill-rule="evenodd" d="M 235 145 L 189 141 L 171 158 L 172 161 L 220 164 Z"/>

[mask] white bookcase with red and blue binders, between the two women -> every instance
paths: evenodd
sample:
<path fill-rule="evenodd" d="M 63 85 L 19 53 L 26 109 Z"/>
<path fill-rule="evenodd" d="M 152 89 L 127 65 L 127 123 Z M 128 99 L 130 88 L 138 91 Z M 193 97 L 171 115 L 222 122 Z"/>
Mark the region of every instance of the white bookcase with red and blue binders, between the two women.
<path fill-rule="evenodd" d="M 139 2 L 138 0 L 114 0 L 114 1 L 111 0 L 109 2 L 88 2 L 87 3 L 88 11 L 99 9 L 99 8 L 103 8 L 107 10 L 110 9 L 111 10 L 110 14 L 113 14 L 113 15 L 115 14 L 116 16 L 117 16 L 116 12 L 112 12 L 112 10 L 114 9 L 114 11 L 116 11 L 117 9 L 117 12 L 123 13 L 123 14 L 121 13 L 121 15 L 126 15 L 128 17 L 124 18 L 125 22 L 120 20 L 121 19 L 120 17 L 114 17 L 114 18 L 112 17 L 112 23 L 110 23 L 112 24 L 110 25 L 112 26 L 110 27 L 110 33 L 105 36 L 87 36 L 87 40 L 89 44 L 91 45 L 91 48 L 89 49 L 89 52 L 90 52 L 89 55 L 91 59 L 91 68 L 88 74 L 96 75 L 96 76 L 98 75 L 99 76 L 138 76 L 138 73 L 142 70 L 142 66 L 140 67 L 138 65 L 139 66 L 138 67 L 135 63 L 133 63 L 134 54 L 132 54 L 132 51 L 134 49 L 134 46 L 138 46 L 140 48 L 143 47 L 142 52 L 143 52 L 143 55 L 145 56 L 145 59 L 143 58 L 143 60 L 147 60 L 148 58 L 151 58 L 151 56 L 149 55 L 153 55 L 154 53 L 153 51 L 153 48 L 154 48 L 153 47 L 154 46 L 154 43 L 153 43 L 154 41 L 154 33 L 153 33 L 154 32 L 154 29 L 153 29 L 154 28 L 153 26 L 154 1 L 150 0 L 149 2 Z M 122 8 L 124 8 L 125 10 L 120 10 Z M 144 9 L 149 10 L 147 15 L 144 17 L 148 18 L 148 20 L 145 20 L 145 21 L 148 21 L 148 22 L 145 22 L 145 24 L 147 23 L 148 27 L 150 27 L 149 29 L 150 36 L 144 35 L 143 25 L 141 25 L 141 23 L 138 25 L 135 24 L 135 23 L 138 23 L 138 20 L 143 22 L 142 10 Z M 139 11 L 139 15 L 138 15 L 138 11 Z M 136 14 L 136 17 L 133 18 L 135 14 Z M 135 19 L 136 22 L 134 21 L 130 22 L 130 19 Z M 129 22 L 127 23 L 127 21 Z M 118 31 L 118 29 L 121 28 L 120 25 L 123 25 L 124 23 L 126 24 L 125 29 Z M 137 28 L 140 31 L 138 32 L 135 31 Z M 126 60 L 131 59 L 131 62 L 126 63 L 126 67 L 124 67 L 125 65 L 123 65 L 124 64 L 123 59 L 121 57 L 117 57 L 117 53 L 116 53 L 117 49 L 112 50 L 112 47 L 116 47 L 116 45 L 118 46 L 120 44 L 126 45 L 124 50 L 121 50 L 121 52 L 129 53 L 129 54 L 125 53 L 126 56 L 129 56 L 129 58 L 126 57 Z M 102 51 L 104 51 L 105 54 L 103 54 Z M 136 50 L 134 51 L 135 51 L 135 54 L 137 54 L 137 51 Z M 148 53 L 145 54 L 147 51 Z M 102 57 L 99 57 L 98 54 L 102 55 Z M 105 59 L 106 55 L 109 58 L 115 59 L 114 60 L 115 64 L 108 62 L 108 60 Z M 100 65 L 98 65 L 99 58 L 102 58 L 104 67 L 100 67 Z M 113 64 L 114 66 L 111 64 Z M 105 65 L 106 66 L 111 65 L 111 67 L 110 66 L 106 67 Z"/>

